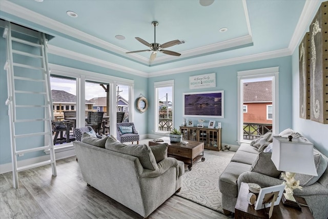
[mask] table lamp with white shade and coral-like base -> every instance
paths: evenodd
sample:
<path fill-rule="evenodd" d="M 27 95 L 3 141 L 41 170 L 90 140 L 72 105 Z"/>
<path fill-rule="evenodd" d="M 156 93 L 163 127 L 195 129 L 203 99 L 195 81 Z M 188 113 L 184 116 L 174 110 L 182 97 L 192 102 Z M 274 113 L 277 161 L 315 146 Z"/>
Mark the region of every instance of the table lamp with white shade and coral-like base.
<path fill-rule="evenodd" d="M 277 170 L 285 171 L 282 175 L 286 180 L 283 183 L 285 185 L 283 203 L 300 208 L 293 196 L 293 190 L 302 187 L 294 176 L 295 173 L 318 175 L 314 164 L 313 144 L 304 138 L 274 136 L 271 160 Z"/>

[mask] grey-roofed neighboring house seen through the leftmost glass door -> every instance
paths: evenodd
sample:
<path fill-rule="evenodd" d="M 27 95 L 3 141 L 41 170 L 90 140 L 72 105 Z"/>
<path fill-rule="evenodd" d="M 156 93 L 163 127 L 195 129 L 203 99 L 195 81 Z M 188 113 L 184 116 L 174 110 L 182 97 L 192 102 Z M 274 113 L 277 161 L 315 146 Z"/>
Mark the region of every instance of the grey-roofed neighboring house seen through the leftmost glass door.
<path fill-rule="evenodd" d="M 51 95 L 55 118 L 63 117 L 66 110 L 76 110 L 76 95 L 63 90 L 51 90 Z M 86 110 L 92 110 L 93 104 L 86 100 Z"/>

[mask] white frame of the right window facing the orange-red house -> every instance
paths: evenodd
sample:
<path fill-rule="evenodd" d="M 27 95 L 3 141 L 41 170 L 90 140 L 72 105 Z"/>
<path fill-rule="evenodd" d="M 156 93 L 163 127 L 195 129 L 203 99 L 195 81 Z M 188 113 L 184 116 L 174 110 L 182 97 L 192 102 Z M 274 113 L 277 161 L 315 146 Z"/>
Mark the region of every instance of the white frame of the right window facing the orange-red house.
<path fill-rule="evenodd" d="M 272 78 L 272 132 L 273 134 L 279 131 L 279 67 L 254 69 L 237 72 L 237 95 L 238 95 L 238 115 L 237 115 L 237 142 L 249 143 L 250 140 L 243 139 L 243 80 L 251 78 Z"/>

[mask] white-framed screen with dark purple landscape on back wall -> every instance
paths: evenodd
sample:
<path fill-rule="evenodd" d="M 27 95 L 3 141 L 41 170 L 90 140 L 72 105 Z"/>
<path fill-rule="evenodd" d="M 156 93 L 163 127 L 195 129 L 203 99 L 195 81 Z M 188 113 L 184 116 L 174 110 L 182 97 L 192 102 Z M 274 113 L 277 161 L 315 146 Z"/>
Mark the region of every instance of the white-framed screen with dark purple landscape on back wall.
<path fill-rule="evenodd" d="M 223 118 L 223 90 L 183 93 L 183 116 Z"/>

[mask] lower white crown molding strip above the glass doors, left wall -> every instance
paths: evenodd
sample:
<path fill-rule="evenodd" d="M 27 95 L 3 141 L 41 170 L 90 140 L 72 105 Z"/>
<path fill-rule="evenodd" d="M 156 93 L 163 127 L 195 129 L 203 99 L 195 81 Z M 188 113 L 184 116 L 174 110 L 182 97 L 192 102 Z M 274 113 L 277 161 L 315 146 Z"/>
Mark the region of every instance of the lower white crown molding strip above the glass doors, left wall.
<path fill-rule="evenodd" d="M 105 68 L 109 68 L 109 69 L 113 69 L 113 70 L 117 70 L 117 71 L 122 71 L 122 72 L 130 73 L 130 74 L 134 74 L 134 75 L 138 75 L 138 76 L 143 76 L 143 77 L 148 76 L 148 73 L 143 72 L 143 71 L 138 71 L 138 70 L 128 68 L 125 66 L 117 65 L 117 64 L 114 64 L 111 62 L 104 61 L 99 58 L 94 58 L 94 57 L 91 57 L 88 55 L 80 54 L 80 53 L 73 52 L 71 50 L 63 49 L 63 48 L 56 47 L 56 46 L 48 45 L 47 51 L 48 51 L 48 53 L 51 53 L 54 55 L 71 58 L 76 61 L 89 63 L 92 65 L 97 65 L 97 66 L 101 66 L 101 67 L 105 67 Z"/>

